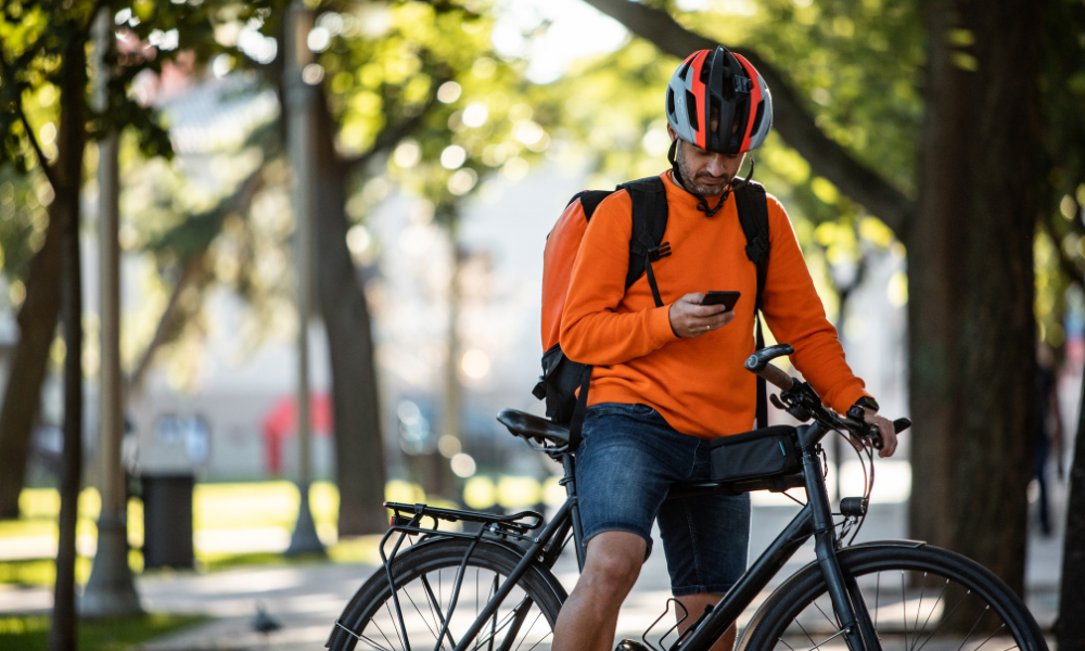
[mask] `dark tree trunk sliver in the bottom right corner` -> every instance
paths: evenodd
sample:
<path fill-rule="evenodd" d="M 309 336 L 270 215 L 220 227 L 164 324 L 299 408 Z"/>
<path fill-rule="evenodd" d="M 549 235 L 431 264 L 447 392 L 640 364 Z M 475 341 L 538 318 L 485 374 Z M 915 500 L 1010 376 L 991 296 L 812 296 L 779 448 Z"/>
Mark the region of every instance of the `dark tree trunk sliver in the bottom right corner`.
<path fill-rule="evenodd" d="M 1070 500 L 1062 547 L 1062 588 L 1055 637 L 1059 651 L 1085 651 L 1085 382 L 1070 467 Z"/>

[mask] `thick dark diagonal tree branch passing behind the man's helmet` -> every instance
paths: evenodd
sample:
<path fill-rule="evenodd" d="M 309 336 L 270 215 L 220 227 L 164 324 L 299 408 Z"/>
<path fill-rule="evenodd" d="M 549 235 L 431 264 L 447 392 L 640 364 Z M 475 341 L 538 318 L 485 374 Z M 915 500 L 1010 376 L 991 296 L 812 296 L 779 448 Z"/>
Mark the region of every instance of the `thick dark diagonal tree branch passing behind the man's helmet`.
<path fill-rule="evenodd" d="M 679 25 L 668 13 L 630 0 L 584 0 L 615 18 L 633 34 L 656 48 L 685 59 L 695 50 L 713 50 L 716 41 L 694 34 Z M 745 56 L 773 91 L 773 126 L 789 145 L 795 149 L 818 175 L 832 181 L 841 192 L 861 204 L 890 227 L 897 239 L 904 239 L 915 202 L 896 187 L 870 169 L 837 141 L 827 137 L 814 124 L 814 118 L 783 75 L 756 52 L 736 49 Z"/>

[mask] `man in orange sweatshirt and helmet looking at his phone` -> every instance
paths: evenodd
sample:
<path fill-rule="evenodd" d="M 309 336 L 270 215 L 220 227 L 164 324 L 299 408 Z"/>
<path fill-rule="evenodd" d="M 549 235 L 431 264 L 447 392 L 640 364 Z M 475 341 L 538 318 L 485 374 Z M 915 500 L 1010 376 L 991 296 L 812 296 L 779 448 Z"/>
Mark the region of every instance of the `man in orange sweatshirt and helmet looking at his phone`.
<path fill-rule="evenodd" d="M 659 518 L 672 591 L 690 613 L 717 602 L 745 570 L 750 498 L 709 496 L 664 502 L 671 484 L 710 478 L 707 439 L 749 431 L 755 378 L 756 268 L 735 199 L 745 152 L 771 124 L 771 97 L 757 72 L 723 48 L 687 59 L 666 94 L 672 169 L 661 176 L 672 255 L 653 265 L 664 306 L 641 277 L 625 289 L 631 200 L 618 191 L 596 208 L 573 266 L 561 318 L 561 347 L 593 365 L 584 441 L 576 452 L 584 572 L 561 610 L 554 651 L 604 651 L 617 613 L 650 552 Z M 814 290 L 791 224 L 768 197 L 769 245 L 764 315 L 792 361 L 840 412 L 866 409 L 896 448 L 892 423 L 844 362 L 835 330 Z M 702 306 L 704 292 L 742 293 L 732 311 Z M 716 644 L 730 651 L 735 626 Z"/>

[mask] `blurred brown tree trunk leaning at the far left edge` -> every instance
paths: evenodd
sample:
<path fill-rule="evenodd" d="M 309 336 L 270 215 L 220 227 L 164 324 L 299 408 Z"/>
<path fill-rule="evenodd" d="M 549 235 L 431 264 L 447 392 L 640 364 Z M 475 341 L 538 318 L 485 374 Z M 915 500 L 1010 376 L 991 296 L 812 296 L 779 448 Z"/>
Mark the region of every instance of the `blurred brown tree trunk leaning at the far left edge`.
<path fill-rule="evenodd" d="M 0 520 L 18 518 L 18 495 L 26 478 L 30 437 L 41 405 L 41 382 L 60 315 L 64 209 L 62 201 L 49 206 L 46 241 L 30 261 L 26 299 L 18 310 L 18 343 L 0 407 Z"/>

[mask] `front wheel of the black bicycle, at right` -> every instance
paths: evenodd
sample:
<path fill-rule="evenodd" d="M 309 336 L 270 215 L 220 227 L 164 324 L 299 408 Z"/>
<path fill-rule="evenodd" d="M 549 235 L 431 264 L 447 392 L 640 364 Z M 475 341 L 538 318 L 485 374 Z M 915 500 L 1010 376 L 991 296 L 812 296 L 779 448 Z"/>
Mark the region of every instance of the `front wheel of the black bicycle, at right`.
<path fill-rule="evenodd" d="M 845 579 L 861 592 L 882 649 L 1047 651 L 1024 602 L 986 567 L 912 545 L 859 545 L 837 554 Z M 835 620 L 821 571 L 812 563 L 758 609 L 738 651 L 847 649 Z"/>

